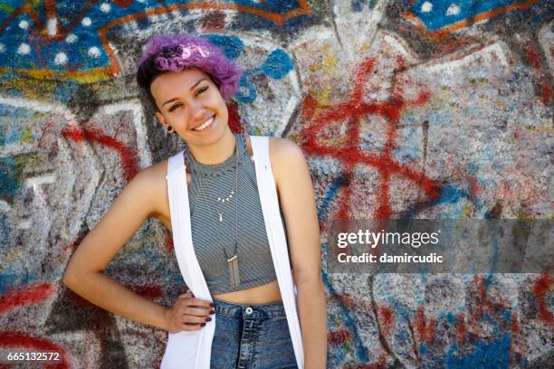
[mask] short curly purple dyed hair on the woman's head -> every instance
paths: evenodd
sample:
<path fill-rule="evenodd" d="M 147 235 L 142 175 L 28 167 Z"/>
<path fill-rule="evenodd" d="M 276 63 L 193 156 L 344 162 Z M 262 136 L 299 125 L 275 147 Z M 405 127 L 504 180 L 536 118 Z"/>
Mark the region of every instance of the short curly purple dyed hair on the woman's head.
<path fill-rule="evenodd" d="M 139 60 L 137 82 L 158 109 L 150 91 L 152 81 L 168 71 L 184 71 L 192 67 L 209 75 L 224 99 L 232 98 L 238 90 L 242 75 L 238 67 L 213 43 L 186 34 L 151 37 Z"/>

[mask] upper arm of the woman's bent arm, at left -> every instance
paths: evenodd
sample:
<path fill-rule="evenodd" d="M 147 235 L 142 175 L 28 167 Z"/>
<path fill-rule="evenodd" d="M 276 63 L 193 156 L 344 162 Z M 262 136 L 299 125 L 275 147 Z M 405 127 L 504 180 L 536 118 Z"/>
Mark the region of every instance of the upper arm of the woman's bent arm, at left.
<path fill-rule="evenodd" d="M 100 222 L 73 253 L 64 281 L 76 273 L 105 270 L 110 260 L 143 222 L 158 213 L 165 183 L 159 171 L 148 168 L 136 175 L 112 203 Z M 167 187 L 166 187 L 167 188 Z"/>

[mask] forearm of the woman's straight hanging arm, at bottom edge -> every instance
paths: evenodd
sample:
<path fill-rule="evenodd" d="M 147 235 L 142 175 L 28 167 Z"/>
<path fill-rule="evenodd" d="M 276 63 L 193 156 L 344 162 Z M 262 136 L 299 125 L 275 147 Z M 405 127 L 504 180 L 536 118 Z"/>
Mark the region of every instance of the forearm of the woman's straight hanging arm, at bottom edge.
<path fill-rule="evenodd" d="M 297 284 L 304 368 L 324 369 L 327 360 L 327 308 L 321 279 Z"/>

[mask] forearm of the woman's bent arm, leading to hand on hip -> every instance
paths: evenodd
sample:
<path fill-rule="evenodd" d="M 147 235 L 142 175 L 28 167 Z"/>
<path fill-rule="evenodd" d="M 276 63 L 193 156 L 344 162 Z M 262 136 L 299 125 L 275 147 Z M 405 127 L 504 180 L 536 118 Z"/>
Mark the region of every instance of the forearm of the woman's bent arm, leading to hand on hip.
<path fill-rule="evenodd" d="M 63 279 L 75 293 L 121 317 L 167 330 L 167 308 L 143 298 L 101 272 Z"/>

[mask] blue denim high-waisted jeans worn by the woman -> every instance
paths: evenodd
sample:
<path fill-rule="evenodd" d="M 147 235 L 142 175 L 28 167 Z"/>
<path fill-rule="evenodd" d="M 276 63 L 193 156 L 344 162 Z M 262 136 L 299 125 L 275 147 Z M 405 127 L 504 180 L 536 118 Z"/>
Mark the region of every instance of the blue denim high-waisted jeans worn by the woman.
<path fill-rule="evenodd" d="M 211 369 L 298 368 L 282 303 L 238 305 L 214 298 Z"/>

